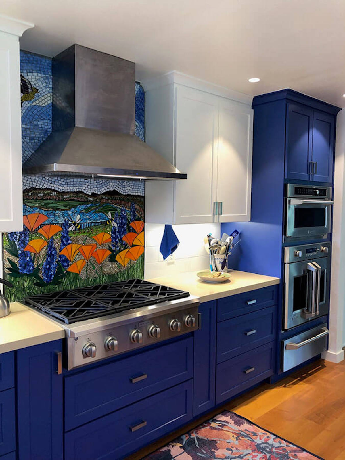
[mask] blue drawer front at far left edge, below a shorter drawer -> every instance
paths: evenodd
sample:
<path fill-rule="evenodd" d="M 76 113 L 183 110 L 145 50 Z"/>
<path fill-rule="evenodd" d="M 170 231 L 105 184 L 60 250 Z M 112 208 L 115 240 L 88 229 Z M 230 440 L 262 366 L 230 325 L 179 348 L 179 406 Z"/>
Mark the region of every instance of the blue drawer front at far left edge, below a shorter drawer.
<path fill-rule="evenodd" d="M 0 392 L 0 455 L 16 449 L 14 388 Z"/>

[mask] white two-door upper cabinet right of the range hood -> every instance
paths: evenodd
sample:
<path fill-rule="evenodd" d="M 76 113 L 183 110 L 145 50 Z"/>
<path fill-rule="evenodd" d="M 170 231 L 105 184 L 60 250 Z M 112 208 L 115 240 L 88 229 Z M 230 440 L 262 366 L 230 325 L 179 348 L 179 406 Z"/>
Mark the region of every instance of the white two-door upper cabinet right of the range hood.
<path fill-rule="evenodd" d="M 146 222 L 250 220 L 249 98 L 235 102 L 210 92 L 213 85 L 193 88 L 177 82 L 178 74 L 173 78 L 146 91 L 146 142 L 188 179 L 146 182 Z"/>

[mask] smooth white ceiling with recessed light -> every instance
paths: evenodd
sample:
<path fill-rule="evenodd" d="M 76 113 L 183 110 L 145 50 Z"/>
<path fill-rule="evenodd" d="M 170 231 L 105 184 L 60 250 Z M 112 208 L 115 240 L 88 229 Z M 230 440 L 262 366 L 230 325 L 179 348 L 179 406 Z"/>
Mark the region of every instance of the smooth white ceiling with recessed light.
<path fill-rule="evenodd" d="M 20 41 L 31 52 L 78 43 L 134 61 L 139 80 L 177 70 L 345 106 L 345 0 L 1 0 L 0 14 L 35 23 Z"/>

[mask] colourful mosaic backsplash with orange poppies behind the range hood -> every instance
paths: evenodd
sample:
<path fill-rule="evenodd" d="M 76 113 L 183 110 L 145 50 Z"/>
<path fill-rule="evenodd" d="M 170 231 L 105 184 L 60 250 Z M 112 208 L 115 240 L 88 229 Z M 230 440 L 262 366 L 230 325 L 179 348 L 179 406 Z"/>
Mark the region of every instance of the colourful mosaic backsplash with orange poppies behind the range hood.
<path fill-rule="evenodd" d="M 52 60 L 20 52 L 26 161 L 52 132 Z M 135 134 L 145 140 L 145 93 L 135 84 Z M 3 235 L 11 300 L 144 277 L 144 181 L 23 177 L 23 232 Z"/>

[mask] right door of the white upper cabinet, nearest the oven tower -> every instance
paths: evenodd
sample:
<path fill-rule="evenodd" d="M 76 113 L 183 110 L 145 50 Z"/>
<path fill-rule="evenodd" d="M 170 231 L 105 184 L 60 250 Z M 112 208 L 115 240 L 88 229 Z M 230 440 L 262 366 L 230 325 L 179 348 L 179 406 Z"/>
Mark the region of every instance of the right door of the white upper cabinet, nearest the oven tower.
<path fill-rule="evenodd" d="M 217 201 L 219 222 L 250 220 L 253 110 L 219 98 Z"/>

